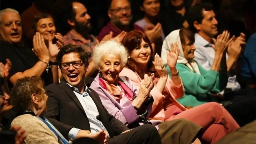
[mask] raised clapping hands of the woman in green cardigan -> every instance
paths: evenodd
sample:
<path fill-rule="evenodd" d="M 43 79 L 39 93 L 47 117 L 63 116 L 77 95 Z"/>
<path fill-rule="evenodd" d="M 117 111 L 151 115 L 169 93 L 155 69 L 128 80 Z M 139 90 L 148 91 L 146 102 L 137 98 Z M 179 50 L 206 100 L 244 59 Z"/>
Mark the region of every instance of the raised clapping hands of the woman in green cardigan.
<path fill-rule="evenodd" d="M 226 47 L 232 41 L 232 39 L 229 39 L 229 36 L 230 33 L 228 31 L 223 31 L 222 34 L 217 36 L 217 40 L 212 39 L 214 43 L 212 47 L 214 48 L 215 52 L 223 53 L 226 50 Z"/>

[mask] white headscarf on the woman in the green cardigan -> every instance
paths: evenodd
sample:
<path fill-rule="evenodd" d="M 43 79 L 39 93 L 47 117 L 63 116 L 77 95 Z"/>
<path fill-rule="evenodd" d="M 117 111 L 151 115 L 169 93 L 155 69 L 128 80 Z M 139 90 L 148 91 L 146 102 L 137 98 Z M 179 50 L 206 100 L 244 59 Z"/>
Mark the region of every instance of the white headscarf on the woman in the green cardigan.
<path fill-rule="evenodd" d="M 165 40 L 163 42 L 163 47 L 165 46 L 166 50 L 171 50 L 172 42 L 173 43 L 178 42 L 180 54 L 179 54 L 177 63 L 185 64 L 190 69 L 191 72 L 196 72 L 197 74 L 201 74 L 196 61 L 192 60 L 191 62 L 188 62 L 186 60 L 186 58 L 184 57 L 184 52 L 183 52 L 183 48 L 182 48 L 181 41 L 180 41 L 179 31 L 180 30 L 174 30 L 169 35 L 167 35 L 167 37 L 165 38 Z"/>

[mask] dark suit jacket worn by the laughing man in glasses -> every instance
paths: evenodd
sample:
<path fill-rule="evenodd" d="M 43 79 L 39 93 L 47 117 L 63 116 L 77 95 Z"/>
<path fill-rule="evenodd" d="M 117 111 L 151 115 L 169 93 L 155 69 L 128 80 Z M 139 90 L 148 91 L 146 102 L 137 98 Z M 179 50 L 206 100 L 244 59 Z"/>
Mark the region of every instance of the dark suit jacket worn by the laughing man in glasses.
<path fill-rule="evenodd" d="M 90 131 L 90 124 L 85 111 L 75 93 L 65 81 L 61 81 L 59 84 L 48 85 L 45 88 L 49 96 L 45 117 L 50 120 L 66 139 L 68 139 L 68 133 L 73 127 Z M 90 88 L 89 90 L 89 95 L 99 112 L 98 120 L 107 129 L 110 138 L 129 130 L 122 122 L 108 113 L 102 105 L 98 94 Z"/>

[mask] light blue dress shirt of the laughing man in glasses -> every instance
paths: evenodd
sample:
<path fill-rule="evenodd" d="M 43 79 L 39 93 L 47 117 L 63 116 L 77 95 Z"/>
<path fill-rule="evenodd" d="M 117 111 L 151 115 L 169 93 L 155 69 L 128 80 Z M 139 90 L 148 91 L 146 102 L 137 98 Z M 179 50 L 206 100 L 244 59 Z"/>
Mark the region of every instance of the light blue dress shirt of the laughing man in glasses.
<path fill-rule="evenodd" d="M 97 116 L 99 116 L 99 112 L 98 112 L 98 109 L 97 109 L 94 101 L 89 96 L 89 93 L 87 93 L 88 87 L 85 85 L 84 93 L 81 93 L 78 91 L 78 89 L 76 87 L 73 87 L 70 84 L 68 84 L 68 85 L 72 88 L 72 90 L 76 94 L 76 97 L 78 98 L 79 102 L 83 106 L 83 109 L 84 109 L 84 111 L 87 115 L 87 118 L 89 120 L 89 124 L 91 127 L 91 133 L 97 133 L 100 130 L 104 130 L 104 131 L 108 132 L 107 129 L 102 124 L 102 122 L 96 118 Z M 69 140 L 71 140 L 71 141 L 75 140 L 79 130 L 80 129 L 73 127 L 69 131 Z M 109 134 L 108 134 L 108 136 L 109 136 Z"/>

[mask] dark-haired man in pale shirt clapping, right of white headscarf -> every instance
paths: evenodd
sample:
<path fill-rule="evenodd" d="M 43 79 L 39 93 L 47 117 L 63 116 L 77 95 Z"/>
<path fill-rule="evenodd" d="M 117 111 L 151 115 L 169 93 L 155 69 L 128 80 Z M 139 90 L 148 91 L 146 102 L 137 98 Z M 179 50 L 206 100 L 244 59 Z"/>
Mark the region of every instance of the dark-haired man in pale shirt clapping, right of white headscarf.
<path fill-rule="evenodd" d="M 197 47 L 194 52 L 195 60 L 206 70 L 210 70 L 215 57 L 215 50 L 212 47 L 212 39 L 217 35 L 218 21 L 215 19 L 215 13 L 211 4 L 196 5 L 195 11 L 188 13 L 187 21 L 190 25 L 190 29 L 195 33 L 195 43 Z M 201 11 L 200 11 L 201 10 Z M 239 38 L 240 39 L 240 38 Z M 241 36 L 242 39 L 242 36 Z M 233 64 L 237 61 L 239 54 L 241 53 L 241 44 L 238 50 L 233 51 L 234 42 L 228 46 L 228 53 L 226 54 L 227 67 L 229 72 L 229 79 L 226 89 L 219 94 L 229 93 L 241 89 L 241 86 L 236 81 L 236 76 L 231 75 L 230 71 Z M 228 45 L 228 44 L 227 44 Z"/>

